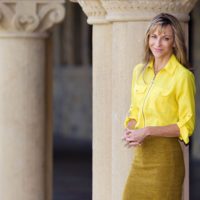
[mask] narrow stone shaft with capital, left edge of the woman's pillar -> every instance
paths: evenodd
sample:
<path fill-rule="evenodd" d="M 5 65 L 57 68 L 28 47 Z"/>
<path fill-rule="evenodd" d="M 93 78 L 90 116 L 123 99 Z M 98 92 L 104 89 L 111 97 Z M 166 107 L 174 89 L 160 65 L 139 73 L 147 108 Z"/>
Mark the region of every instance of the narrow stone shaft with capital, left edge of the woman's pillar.
<path fill-rule="evenodd" d="M 74 1 L 74 0 L 73 0 Z M 112 24 L 100 1 L 80 1 L 93 25 L 93 198 L 111 200 Z"/>

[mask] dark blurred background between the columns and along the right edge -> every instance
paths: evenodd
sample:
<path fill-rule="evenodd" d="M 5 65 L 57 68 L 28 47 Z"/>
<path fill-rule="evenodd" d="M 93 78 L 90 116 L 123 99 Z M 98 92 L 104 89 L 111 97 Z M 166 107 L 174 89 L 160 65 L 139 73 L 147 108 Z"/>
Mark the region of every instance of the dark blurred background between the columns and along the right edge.
<path fill-rule="evenodd" d="M 190 200 L 200 199 L 200 1 L 191 12 L 190 62 L 197 123 L 190 143 Z M 53 31 L 54 200 L 92 199 L 92 27 L 78 4 Z"/>

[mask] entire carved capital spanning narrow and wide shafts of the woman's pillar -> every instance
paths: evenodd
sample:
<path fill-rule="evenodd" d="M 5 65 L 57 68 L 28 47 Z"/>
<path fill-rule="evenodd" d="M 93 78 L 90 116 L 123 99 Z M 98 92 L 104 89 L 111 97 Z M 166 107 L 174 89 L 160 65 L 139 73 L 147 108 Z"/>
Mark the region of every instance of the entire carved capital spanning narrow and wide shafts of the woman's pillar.
<path fill-rule="evenodd" d="M 88 23 L 114 21 L 149 21 L 161 12 L 175 15 L 180 21 L 189 20 L 189 12 L 197 0 L 71 0 L 81 5 Z"/>

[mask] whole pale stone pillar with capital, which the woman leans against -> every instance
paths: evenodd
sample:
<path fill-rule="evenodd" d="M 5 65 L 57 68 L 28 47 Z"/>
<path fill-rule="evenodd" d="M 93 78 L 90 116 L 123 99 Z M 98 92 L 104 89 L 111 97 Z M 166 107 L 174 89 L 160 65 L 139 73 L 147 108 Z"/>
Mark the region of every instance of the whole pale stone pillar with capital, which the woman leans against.
<path fill-rule="evenodd" d="M 93 24 L 93 199 L 121 200 L 134 153 L 123 147 L 120 138 L 130 105 L 132 69 L 141 61 L 144 32 L 160 12 L 175 15 L 187 29 L 188 13 L 196 0 L 76 2 Z M 183 150 L 184 200 L 188 200 L 188 148 Z"/>

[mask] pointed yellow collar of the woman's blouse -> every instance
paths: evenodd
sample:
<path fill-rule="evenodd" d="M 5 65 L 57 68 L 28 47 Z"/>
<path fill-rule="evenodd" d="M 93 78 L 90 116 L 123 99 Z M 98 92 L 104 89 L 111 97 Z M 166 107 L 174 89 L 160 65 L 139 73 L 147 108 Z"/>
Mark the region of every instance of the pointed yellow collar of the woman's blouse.
<path fill-rule="evenodd" d="M 170 74 L 173 74 L 178 63 L 179 62 L 176 59 L 176 56 L 174 54 L 172 54 L 171 57 L 169 58 L 167 64 L 163 67 L 162 70 L 165 70 Z M 147 67 L 153 69 L 153 60 L 149 61 Z"/>

